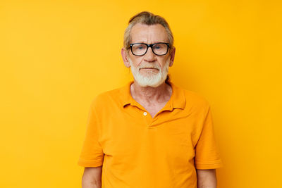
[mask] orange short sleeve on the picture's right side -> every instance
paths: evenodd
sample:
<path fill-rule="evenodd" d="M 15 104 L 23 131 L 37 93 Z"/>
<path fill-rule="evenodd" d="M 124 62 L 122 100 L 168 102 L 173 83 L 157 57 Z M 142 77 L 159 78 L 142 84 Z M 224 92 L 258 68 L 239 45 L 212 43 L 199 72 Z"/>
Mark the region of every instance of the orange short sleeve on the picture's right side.
<path fill-rule="evenodd" d="M 202 132 L 195 146 L 195 168 L 196 169 L 214 169 L 223 167 L 223 163 L 216 147 L 214 136 L 214 125 L 210 107 L 204 116 Z"/>

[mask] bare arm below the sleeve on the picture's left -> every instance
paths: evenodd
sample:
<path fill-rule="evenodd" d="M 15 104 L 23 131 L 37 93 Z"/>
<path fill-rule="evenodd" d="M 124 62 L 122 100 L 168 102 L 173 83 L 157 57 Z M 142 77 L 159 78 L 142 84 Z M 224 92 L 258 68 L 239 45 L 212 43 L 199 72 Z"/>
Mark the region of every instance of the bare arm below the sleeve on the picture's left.
<path fill-rule="evenodd" d="M 85 167 L 82 175 L 82 188 L 102 187 L 102 165 L 97 167 Z"/>

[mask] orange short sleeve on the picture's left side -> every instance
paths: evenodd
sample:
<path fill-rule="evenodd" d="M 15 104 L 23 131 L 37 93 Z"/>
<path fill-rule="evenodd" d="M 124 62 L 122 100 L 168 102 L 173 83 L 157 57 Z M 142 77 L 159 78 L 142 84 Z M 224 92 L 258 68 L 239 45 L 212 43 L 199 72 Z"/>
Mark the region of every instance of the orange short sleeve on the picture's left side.
<path fill-rule="evenodd" d="M 94 101 L 92 101 L 87 118 L 87 130 L 78 165 L 84 167 L 97 167 L 103 164 L 104 153 L 98 140 L 99 120 L 97 118 L 97 113 L 94 110 Z"/>

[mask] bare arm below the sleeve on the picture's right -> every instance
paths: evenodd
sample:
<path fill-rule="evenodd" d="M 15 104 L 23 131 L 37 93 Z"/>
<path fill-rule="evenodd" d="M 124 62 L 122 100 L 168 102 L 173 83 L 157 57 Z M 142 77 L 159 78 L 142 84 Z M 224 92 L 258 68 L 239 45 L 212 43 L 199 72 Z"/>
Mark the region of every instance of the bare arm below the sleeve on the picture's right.
<path fill-rule="evenodd" d="M 216 169 L 197 169 L 198 188 L 216 188 Z"/>

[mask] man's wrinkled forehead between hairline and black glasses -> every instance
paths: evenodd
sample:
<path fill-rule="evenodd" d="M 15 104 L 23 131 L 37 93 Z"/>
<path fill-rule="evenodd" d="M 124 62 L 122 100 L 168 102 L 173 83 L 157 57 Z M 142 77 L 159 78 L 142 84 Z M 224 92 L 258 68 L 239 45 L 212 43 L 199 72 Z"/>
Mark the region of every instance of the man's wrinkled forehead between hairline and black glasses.
<path fill-rule="evenodd" d="M 132 27 L 130 37 L 130 43 L 144 42 L 152 44 L 156 42 L 168 42 L 166 29 L 160 24 L 145 25 L 137 23 Z"/>

